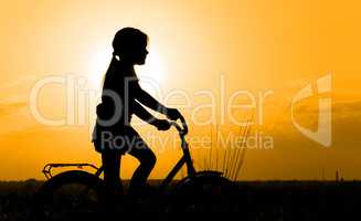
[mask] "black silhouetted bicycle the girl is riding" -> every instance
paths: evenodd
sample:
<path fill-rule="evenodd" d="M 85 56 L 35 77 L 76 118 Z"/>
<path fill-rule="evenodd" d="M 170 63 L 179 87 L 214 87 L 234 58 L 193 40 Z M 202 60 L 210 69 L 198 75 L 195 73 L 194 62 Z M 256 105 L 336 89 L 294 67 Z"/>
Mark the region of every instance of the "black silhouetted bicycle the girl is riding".
<path fill-rule="evenodd" d="M 189 145 L 185 140 L 188 126 L 183 117 L 180 120 L 182 126 L 177 122 L 171 122 L 170 124 L 179 133 L 183 156 L 162 180 L 158 192 L 164 193 L 176 175 L 185 165 L 188 176 L 178 181 L 172 188 L 170 196 L 177 197 L 173 203 L 171 203 L 170 210 L 202 212 L 204 210 L 220 210 L 221 208 L 229 209 L 221 201 L 221 198 L 225 197 L 225 200 L 229 200 L 227 197 L 233 186 L 232 182 L 223 177 L 220 171 L 195 170 Z M 78 169 L 64 171 L 56 176 L 52 175 L 53 168 L 67 167 L 78 167 Z M 84 171 L 84 167 L 93 168 L 95 173 Z M 47 164 L 43 168 L 43 173 L 47 181 L 44 182 L 35 197 L 34 214 L 36 220 L 61 220 L 62 215 L 68 220 L 70 214 L 76 213 L 84 218 L 84 214 L 93 215 L 95 212 L 106 211 L 104 206 L 107 201 L 107 190 L 104 181 L 100 179 L 103 166 L 97 168 L 92 164 Z M 64 199 L 68 196 L 72 196 L 72 198 L 66 202 Z"/>

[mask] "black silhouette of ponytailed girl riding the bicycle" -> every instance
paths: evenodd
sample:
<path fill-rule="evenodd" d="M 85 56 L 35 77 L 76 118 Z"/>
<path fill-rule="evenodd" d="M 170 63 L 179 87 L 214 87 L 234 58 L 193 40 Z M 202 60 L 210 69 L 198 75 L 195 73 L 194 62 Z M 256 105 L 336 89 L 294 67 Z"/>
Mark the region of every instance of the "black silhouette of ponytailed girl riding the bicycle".
<path fill-rule="evenodd" d="M 115 34 L 113 57 L 103 85 L 102 103 L 96 109 L 93 143 L 95 149 L 102 154 L 104 180 L 114 191 L 121 187 L 119 178 L 121 155 L 129 154 L 140 162 L 131 177 L 130 192 L 138 193 L 145 190 L 147 178 L 156 164 L 153 151 L 131 127 L 131 115 L 137 115 L 159 130 L 169 129 L 169 122 L 156 118 L 142 105 L 164 114 L 172 120 L 181 116 L 178 109 L 160 104 L 138 83 L 134 65 L 146 63 L 147 43 L 147 34 L 138 29 L 125 28 Z"/>

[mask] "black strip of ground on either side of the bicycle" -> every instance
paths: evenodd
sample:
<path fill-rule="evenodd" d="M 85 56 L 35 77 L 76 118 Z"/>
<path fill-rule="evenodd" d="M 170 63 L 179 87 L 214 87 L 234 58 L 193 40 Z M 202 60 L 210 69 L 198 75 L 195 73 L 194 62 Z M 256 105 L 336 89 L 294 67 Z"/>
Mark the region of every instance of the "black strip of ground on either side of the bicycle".
<path fill-rule="evenodd" d="M 36 180 L 0 182 L 0 221 L 26 220 L 41 185 Z M 152 207 L 157 207 L 157 200 L 160 197 Z M 230 211 L 233 217 L 225 214 L 224 220 L 361 220 L 361 182 L 237 182 Z M 166 220 L 177 217 L 171 214 Z"/>

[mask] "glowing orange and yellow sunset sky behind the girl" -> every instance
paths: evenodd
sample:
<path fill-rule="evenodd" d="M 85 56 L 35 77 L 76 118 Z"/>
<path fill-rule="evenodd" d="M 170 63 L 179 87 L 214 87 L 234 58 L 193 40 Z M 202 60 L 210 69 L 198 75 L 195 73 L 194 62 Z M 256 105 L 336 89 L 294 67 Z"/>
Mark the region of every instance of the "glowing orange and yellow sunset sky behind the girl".
<path fill-rule="evenodd" d="M 100 164 L 89 141 L 94 108 L 113 36 L 124 27 L 149 35 L 137 73 L 155 97 L 184 114 L 198 169 L 223 170 L 234 148 L 215 134 L 237 135 L 236 123 L 253 116 L 249 136 L 273 145 L 246 148 L 237 179 L 322 179 L 322 171 L 335 179 L 336 170 L 361 179 L 360 10 L 355 0 L 2 1 L 0 180 L 43 179 L 47 162 Z M 330 92 L 293 109 L 296 94 L 309 84 L 317 92 L 325 76 Z M 317 130 L 323 97 L 331 98 L 329 147 L 294 125 Z M 181 154 L 176 131 L 135 127 L 158 157 L 151 178 L 162 178 Z M 213 159 L 210 145 L 192 138 L 212 138 Z M 121 177 L 136 166 L 124 157 Z"/>

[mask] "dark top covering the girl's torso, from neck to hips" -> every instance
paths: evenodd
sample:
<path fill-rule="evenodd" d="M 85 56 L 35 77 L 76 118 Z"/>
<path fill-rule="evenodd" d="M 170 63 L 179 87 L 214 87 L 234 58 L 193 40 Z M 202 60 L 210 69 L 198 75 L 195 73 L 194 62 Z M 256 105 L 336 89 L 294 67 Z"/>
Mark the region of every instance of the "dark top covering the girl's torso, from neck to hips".
<path fill-rule="evenodd" d="M 130 127 L 132 107 L 139 91 L 139 80 L 134 67 L 113 59 L 105 75 L 102 103 L 96 107 L 97 118 L 92 141 L 97 151 L 114 149 L 109 146 L 112 137 L 124 136 L 126 128 Z"/>

